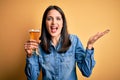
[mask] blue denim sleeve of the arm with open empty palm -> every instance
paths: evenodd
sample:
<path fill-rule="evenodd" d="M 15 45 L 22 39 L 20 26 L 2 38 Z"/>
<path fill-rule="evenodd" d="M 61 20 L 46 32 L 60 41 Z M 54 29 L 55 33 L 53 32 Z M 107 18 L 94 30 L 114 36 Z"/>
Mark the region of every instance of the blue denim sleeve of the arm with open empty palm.
<path fill-rule="evenodd" d="M 78 37 L 76 37 L 76 40 L 75 59 L 77 65 L 82 72 L 82 75 L 89 77 L 92 73 L 93 67 L 95 66 L 94 48 L 91 50 L 84 50 Z"/>

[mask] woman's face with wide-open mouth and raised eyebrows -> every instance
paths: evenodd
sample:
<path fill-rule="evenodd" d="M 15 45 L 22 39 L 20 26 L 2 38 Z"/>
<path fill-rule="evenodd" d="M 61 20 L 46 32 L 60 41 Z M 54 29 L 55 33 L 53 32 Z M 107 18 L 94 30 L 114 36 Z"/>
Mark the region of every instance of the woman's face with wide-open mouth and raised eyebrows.
<path fill-rule="evenodd" d="M 61 14 L 53 9 L 50 10 L 46 18 L 46 27 L 51 37 L 59 37 L 63 27 L 63 19 Z"/>

